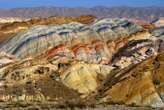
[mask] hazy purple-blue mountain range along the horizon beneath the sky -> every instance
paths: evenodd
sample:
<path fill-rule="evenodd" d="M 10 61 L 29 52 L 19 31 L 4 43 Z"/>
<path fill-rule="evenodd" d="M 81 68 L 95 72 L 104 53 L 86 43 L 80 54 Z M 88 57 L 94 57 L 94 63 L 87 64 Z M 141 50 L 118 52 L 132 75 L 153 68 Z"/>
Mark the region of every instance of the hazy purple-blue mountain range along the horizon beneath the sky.
<path fill-rule="evenodd" d="M 48 17 L 48 16 L 79 16 L 94 15 L 96 17 L 128 17 L 154 20 L 164 16 L 164 7 L 105 7 L 92 8 L 68 8 L 68 7 L 35 7 L 1 9 L 0 16 L 3 17 Z"/>

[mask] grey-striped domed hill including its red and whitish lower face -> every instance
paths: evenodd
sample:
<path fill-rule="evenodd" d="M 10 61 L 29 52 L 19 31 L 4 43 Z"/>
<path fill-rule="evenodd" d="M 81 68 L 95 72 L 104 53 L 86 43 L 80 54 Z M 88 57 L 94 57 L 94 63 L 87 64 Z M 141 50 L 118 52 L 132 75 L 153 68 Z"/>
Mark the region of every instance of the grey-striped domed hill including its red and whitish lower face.
<path fill-rule="evenodd" d="M 101 19 L 90 25 L 69 23 L 34 26 L 4 42 L 1 50 L 17 58 L 33 57 L 49 50 L 50 56 L 69 53 L 77 60 L 109 64 L 120 48 L 138 39 L 149 39 L 149 45 L 154 42 L 151 34 L 139 25 L 124 19 Z M 133 49 L 137 49 L 135 46 L 138 45 L 134 44 Z M 144 44 L 141 42 L 141 45 Z M 149 47 L 145 47 L 144 51 Z M 152 51 L 154 53 L 155 50 Z"/>

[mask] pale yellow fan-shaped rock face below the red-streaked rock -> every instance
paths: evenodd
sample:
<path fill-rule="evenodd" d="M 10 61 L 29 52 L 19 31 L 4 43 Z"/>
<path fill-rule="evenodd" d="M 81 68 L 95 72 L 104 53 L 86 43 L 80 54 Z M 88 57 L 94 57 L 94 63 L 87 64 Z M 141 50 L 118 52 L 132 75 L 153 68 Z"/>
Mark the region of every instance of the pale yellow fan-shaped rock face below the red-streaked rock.
<path fill-rule="evenodd" d="M 76 63 L 64 71 L 61 78 L 64 84 L 85 97 L 96 91 L 112 69 L 114 67 L 107 65 Z"/>

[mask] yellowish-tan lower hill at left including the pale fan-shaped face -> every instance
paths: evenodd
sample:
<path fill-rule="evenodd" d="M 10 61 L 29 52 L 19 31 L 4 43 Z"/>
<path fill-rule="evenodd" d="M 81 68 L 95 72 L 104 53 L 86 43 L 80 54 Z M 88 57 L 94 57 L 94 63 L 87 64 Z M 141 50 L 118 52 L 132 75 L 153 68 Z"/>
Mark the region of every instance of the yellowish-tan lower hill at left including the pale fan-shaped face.
<path fill-rule="evenodd" d="M 18 60 L 0 69 L 0 100 L 80 102 L 96 91 L 112 69 L 50 57 Z"/>

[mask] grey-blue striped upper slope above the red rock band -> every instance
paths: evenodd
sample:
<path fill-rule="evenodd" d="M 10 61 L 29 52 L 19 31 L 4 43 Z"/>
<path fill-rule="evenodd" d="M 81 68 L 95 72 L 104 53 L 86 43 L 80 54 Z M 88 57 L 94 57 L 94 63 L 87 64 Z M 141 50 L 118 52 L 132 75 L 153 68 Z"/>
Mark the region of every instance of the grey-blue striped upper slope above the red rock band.
<path fill-rule="evenodd" d="M 135 37 L 133 34 L 136 34 Z M 68 44 L 71 47 L 79 43 L 90 43 L 90 40 L 101 40 L 109 42 L 110 45 L 110 40 L 118 40 L 118 45 L 122 45 L 119 44 L 119 40 L 121 41 L 124 37 L 125 39 L 127 37 L 128 40 L 128 36 L 131 40 L 142 39 L 142 37 L 146 39 L 150 37 L 150 34 L 144 31 L 141 26 L 119 19 L 102 19 L 89 26 L 81 23 L 38 25 L 17 33 L 13 38 L 3 43 L 1 49 L 17 57 L 25 58 L 40 54 L 48 47 L 58 44 Z"/>

